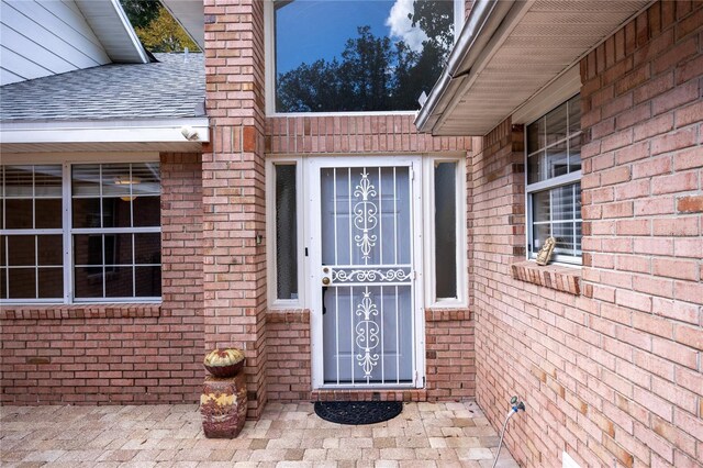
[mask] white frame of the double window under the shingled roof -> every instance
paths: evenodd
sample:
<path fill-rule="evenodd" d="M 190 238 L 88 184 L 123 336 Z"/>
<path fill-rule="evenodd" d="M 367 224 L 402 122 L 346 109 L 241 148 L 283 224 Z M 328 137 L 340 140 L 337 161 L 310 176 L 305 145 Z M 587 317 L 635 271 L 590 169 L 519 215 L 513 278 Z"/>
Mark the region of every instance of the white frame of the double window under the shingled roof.
<path fill-rule="evenodd" d="M 10 154 L 3 155 L 3 166 L 32 166 L 32 165 L 55 165 L 62 166 L 62 229 L 60 230 L 31 230 L 29 234 L 43 234 L 44 231 L 52 231 L 49 234 L 60 234 L 63 236 L 63 270 L 64 270 L 64 293 L 62 299 L 2 299 L 0 298 L 0 304 L 101 304 L 101 303 L 159 303 L 161 297 L 138 297 L 138 298 L 74 298 L 74 249 L 72 237 L 74 234 L 119 234 L 119 233 L 161 233 L 161 225 L 158 227 L 114 227 L 114 229 L 100 229 L 99 231 L 93 229 L 74 229 L 72 227 L 72 212 L 71 212 L 71 166 L 82 164 L 113 164 L 113 163 L 159 163 L 158 153 L 38 153 L 38 154 Z M 5 231 L 0 231 L 4 234 Z M 16 234 L 16 230 L 12 231 Z M 163 265 L 163 259 L 161 259 Z"/>

